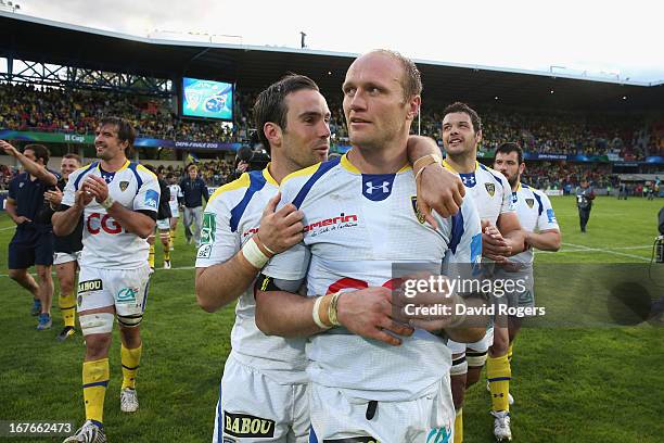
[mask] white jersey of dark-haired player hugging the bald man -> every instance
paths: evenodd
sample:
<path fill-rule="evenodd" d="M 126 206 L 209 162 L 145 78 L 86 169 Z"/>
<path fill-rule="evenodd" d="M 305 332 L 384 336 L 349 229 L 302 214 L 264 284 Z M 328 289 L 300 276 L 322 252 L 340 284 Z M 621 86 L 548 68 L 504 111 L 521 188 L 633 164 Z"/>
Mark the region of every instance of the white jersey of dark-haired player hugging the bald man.
<path fill-rule="evenodd" d="M 196 267 L 229 261 L 260 226 L 260 217 L 279 185 L 268 169 L 245 173 L 217 189 L 203 213 Z M 256 327 L 254 283 L 240 295 L 231 331 L 232 353 L 241 363 L 271 376 L 278 383 L 305 383 L 304 339 L 268 337 Z"/>

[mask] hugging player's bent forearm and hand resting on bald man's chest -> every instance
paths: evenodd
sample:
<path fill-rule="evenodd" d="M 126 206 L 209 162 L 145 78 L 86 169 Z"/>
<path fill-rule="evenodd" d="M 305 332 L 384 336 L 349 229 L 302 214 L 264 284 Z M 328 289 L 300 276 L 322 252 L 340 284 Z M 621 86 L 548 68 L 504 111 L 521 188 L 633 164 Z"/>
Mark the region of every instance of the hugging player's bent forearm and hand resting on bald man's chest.
<path fill-rule="evenodd" d="M 274 211 L 279 201 L 279 193 L 270 199 L 263 212 L 260 228 L 254 236 L 255 245 L 268 257 L 303 239 L 302 212 L 292 204 Z M 196 269 L 196 301 L 203 309 L 213 313 L 226 306 L 252 284 L 260 267 L 250 262 L 247 254 L 247 251 L 240 250 L 225 263 Z"/>

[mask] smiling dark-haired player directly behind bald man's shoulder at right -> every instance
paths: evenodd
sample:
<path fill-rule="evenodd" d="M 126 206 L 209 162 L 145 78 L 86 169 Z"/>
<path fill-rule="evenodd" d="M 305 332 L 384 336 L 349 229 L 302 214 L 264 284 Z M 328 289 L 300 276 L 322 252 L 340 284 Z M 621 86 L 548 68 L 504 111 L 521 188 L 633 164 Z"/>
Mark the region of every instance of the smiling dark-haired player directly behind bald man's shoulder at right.
<path fill-rule="evenodd" d="M 511 189 L 498 172 L 477 162 L 477 144 L 482 140 L 482 121 L 465 103 L 447 106 L 443 117 L 445 166 L 463 180 L 473 195 L 482 219 L 483 263 L 503 263 L 508 256 L 523 251 L 524 232 L 512 204 Z M 496 439 L 511 440 L 509 415 L 510 364 L 508 362 L 507 325 L 496 321 L 478 342 L 464 344 L 450 341 L 454 366 L 451 384 L 457 409 L 455 442 L 463 441 L 463 397 L 465 390 L 480 379 L 486 362 L 486 375 L 491 390 L 491 415 Z M 487 351 L 490 352 L 487 358 Z"/>

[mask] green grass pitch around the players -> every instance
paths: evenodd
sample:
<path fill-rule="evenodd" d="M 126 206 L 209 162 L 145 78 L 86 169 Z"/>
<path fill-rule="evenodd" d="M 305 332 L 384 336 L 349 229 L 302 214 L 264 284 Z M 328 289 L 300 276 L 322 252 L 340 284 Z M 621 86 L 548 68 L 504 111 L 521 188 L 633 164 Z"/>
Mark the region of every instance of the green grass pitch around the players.
<path fill-rule="evenodd" d="M 567 269 L 570 277 L 574 265 L 582 263 L 648 265 L 661 200 L 599 198 L 585 235 L 578 232 L 574 200 L 551 200 L 562 227 L 563 248 L 557 254 L 537 254 L 538 263 L 565 264 L 560 269 Z M 36 319 L 28 314 L 30 296 L 7 277 L 11 226 L 0 213 L 0 420 L 75 420 L 78 426 L 84 420 L 82 338 L 77 333 L 65 343 L 55 341 L 62 325 L 58 308 L 53 309 L 53 329 L 35 330 Z M 133 415 L 119 413 L 119 338 L 114 333 L 104 413 L 112 442 L 208 442 L 212 436 L 233 311 L 207 314 L 197 307 L 191 268 L 194 250 L 183 243 L 181 226 L 178 236 L 173 257 L 176 269 L 157 270 L 152 281 L 142 325 L 141 407 Z M 157 267 L 161 262 L 157 246 Z M 605 276 L 596 278 L 601 281 Z M 547 281 L 553 286 L 557 280 L 564 298 L 564 275 Z M 664 329 L 647 324 L 524 328 L 512 363 L 515 441 L 662 442 L 663 342 Z M 465 442 L 493 441 L 489 407 L 481 382 L 467 396 Z"/>

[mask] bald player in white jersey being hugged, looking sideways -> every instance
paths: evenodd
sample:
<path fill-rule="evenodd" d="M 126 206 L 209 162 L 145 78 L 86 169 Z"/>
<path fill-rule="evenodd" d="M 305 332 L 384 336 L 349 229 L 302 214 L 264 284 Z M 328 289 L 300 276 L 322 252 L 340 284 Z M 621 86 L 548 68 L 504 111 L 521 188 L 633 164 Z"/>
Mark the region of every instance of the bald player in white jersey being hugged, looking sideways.
<path fill-rule="evenodd" d="M 416 175 L 408 165 L 421 91 L 410 60 L 391 51 L 362 55 L 343 91 L 353 148 L 283 179 L 279 211 L 304 213 L 304 241 L 259 276 L 256 324 L 269 336 L 309 338 L 310 441 L 425 441 L 431 432 L 445 441 L 454 422 L 450 354 L 442 338 L 397 321 L 392 265 L 426 262 L 439 273 L 450 248 L 459 260 L 478 258 L 480 219 L 465 200 L 454 218 L 433 214 L 437 229 L 418 216 L 419 173 L 439 164 L 418 161 Z M 440 330 L 454 320 L 421 325 Z M 474 341 L 483 330 L 449 332 Z"/>

